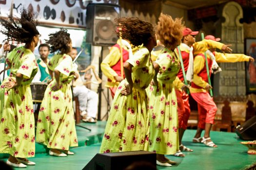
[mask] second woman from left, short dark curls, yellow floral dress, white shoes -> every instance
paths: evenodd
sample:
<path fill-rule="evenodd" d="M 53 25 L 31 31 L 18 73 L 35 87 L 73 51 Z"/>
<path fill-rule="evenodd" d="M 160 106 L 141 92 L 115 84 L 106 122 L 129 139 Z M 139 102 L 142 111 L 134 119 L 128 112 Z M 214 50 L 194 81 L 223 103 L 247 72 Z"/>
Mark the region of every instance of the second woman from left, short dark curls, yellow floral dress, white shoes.
<path fill-rule="evenodd" d="M 51 45 L 51 52 L 59 52 L 48 63 L 53 81 L 47 86 L 40 106 L 36 141 L 50 148 L 50 155 L 67 156 L 74 154 L 69 151 L 70 146 L 78 146 L 69 85 L 74 78 L 74 68 L 67 54 L 72 49 L 72 41 L 63 29 L 49 37 L 46 43 Z"/>

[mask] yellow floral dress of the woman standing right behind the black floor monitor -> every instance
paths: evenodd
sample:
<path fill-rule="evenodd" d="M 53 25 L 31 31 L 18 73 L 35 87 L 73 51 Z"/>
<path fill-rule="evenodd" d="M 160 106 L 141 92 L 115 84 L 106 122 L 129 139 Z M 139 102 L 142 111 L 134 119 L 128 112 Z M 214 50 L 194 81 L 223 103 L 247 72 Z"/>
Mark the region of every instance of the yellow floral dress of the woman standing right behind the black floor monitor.
<path fill-rule="evenodd" d="M 148 87 L 155 70 L 150 59 L 150 52 L 141 47 L 133 58 L 126 62 L 132 67 L 134 82 L 132 93 L 122 95 L 120 92 L 127 84 L 123 80 L 112 102 L 100 153 L 147 150 L 149 133 Z"/>

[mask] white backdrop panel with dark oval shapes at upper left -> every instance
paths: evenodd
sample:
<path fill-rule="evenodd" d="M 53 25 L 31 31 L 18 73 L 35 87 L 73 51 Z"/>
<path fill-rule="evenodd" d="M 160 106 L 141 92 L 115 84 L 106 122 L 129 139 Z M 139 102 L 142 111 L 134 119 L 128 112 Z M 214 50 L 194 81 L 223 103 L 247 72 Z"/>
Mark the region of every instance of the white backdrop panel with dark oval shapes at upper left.
<path fill-rule="evenodd" d="M 0 17 L 19 16 L 24 7 L 39 14 L 41 25 L 85 28 L 88 3 L 118 4 L 118 0 L 0 0 Z"/>

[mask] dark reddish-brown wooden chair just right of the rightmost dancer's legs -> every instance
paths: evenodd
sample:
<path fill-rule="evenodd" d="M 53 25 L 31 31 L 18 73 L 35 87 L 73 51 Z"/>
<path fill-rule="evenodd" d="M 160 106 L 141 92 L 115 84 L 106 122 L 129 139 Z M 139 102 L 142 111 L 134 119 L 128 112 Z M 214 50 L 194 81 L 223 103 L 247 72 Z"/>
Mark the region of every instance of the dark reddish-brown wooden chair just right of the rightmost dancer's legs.
<path fill-rule="evenodd" d="M 221 130 L 221 129 L 227 129 L 227 132 L 231 132 L 232 128 L 232 113 L 231 113 L 231 107 L 229 106 L 228 101 L 224 101 L 224 106 L 222 107 L 221 111 L 221 121 L 217 122 L 213 126 L 213 130 Z"/>

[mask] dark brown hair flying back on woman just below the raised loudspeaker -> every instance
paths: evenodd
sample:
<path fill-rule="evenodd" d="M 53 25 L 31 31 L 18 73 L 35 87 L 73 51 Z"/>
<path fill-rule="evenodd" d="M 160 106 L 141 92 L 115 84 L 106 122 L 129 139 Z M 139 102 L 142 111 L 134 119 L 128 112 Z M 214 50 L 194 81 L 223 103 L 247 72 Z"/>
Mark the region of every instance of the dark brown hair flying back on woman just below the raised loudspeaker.
<path fill-rule="evenodd" d="M 155 36 L 153 25 L 138 17 L 119 17 L 115 18 L 115 22 L 118 36 L 129 40 L 134 46 L 147 44 Z"/>

